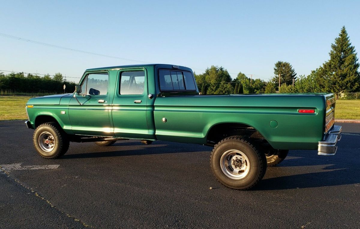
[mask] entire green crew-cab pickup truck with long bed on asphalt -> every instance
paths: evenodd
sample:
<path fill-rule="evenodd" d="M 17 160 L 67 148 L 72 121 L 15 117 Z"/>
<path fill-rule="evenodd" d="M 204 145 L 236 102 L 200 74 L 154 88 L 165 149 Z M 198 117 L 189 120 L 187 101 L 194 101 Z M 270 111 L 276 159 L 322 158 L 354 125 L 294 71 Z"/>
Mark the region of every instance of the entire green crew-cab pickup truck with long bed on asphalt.
<path fill-rule="evenodd" d="M 31 98 L 26 111 L 44 158 L 64 155 L 71 141 L 202 144 L 213 146 L 217 180 L 239 190 L 289 149 L 334 155 L 341 138 L 333 94 L 199 95 L 191 69 L 166 64 L 87 69 L 74 93 Z"/>

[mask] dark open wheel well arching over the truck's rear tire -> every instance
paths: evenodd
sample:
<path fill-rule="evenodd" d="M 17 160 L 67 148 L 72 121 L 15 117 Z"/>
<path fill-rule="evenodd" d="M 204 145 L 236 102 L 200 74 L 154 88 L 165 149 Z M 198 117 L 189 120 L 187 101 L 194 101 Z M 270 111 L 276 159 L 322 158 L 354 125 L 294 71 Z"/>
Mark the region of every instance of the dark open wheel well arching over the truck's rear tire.
<path fill-rule="evenodd" d="M 208 145 L 215 145 L 222 139 L 230 136 L 242 136 L 251 142 L 258 141 L 261 144 L 268 144 L 265 137 L 255 128 L 242 123 L 221 123 L 211 127 L 207 134 L 206 141 Z"/>

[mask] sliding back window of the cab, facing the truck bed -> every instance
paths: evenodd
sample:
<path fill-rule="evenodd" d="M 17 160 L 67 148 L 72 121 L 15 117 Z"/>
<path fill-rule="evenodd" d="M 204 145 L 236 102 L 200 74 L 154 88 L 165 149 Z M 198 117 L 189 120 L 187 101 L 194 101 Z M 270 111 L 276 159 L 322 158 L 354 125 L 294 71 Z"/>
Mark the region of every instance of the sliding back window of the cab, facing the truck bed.
<path fill-rule="evenodd" d="M 186 71 L 159 71 L 161 90 L 196 90 L 194 77 Z"/>

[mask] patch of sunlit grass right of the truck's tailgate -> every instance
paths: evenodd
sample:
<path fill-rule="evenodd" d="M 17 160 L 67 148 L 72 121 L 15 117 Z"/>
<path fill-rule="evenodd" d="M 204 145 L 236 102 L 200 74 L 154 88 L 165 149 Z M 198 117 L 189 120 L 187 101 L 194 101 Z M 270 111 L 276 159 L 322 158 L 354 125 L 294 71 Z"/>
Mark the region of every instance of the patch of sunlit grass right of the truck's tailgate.
<path fill-rule="evenodd" d="M 335 106 L 335 118 L 360 120 L 360 99 L 337 100 Z"/>

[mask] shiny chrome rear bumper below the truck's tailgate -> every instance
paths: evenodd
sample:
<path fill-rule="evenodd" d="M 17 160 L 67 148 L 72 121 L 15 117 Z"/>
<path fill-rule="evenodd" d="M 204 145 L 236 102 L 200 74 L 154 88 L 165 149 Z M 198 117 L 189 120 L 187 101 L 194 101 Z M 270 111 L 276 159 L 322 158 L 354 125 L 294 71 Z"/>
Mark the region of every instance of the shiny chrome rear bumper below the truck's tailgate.
<path fill-rule="evenodd" d="M 336 143 L 341 139 L 341 126 L 333 126 L 325 135 L 324 141 L 319 141 L 318 155 L 335 155 Z"/>

